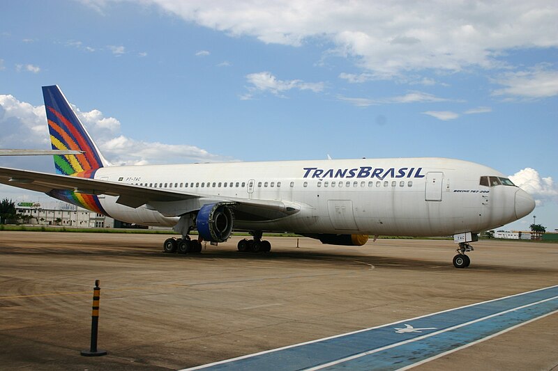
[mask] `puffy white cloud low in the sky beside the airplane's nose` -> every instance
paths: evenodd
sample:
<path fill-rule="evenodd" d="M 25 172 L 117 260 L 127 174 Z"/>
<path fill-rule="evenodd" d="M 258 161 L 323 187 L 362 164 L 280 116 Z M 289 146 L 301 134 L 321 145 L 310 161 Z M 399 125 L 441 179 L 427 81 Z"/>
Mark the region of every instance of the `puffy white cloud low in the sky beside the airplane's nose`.
<path fill-rule="evenodd" d="M 511 181 L 533 196 L 537 205 L 548 201 L 558 203 L 558 184 L 552 177 L 541 177 L 534 168 L 524 168 L 510 175 Z"/>

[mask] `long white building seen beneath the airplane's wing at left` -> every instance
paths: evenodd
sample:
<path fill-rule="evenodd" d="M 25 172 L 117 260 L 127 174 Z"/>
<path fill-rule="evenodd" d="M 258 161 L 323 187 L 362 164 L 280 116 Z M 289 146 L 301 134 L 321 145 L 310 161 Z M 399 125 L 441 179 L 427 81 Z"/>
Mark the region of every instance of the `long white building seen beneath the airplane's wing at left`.
<path fill-rule="evenodd" d="M 16 202 L 24 223 L 35 226 L 114 228 L 114 219 L 61 201 Z"/>

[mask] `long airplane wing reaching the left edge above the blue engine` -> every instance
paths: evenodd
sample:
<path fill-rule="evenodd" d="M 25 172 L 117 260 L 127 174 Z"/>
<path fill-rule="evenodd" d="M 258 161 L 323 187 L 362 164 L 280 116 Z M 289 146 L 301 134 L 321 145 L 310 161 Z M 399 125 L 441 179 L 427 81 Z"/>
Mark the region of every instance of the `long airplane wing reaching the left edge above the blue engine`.
<path fill-rule="evenodd" d="M 164 216 L 180 216 L 199 210 L 206 203 L 233 202 L 243 220 L 273 220 L 299 212 L 301 205 L 279 200 L 193 194 L 179 190 L 153 189 L 106 180 L 41 173 L 15 168 L 0 168 L 0 183 L 30 189 L 45 194 L 54 190 L 75 191 L 81 194 L 116 196 L 116 203 L 129 207 L 146 207 Z"/>

